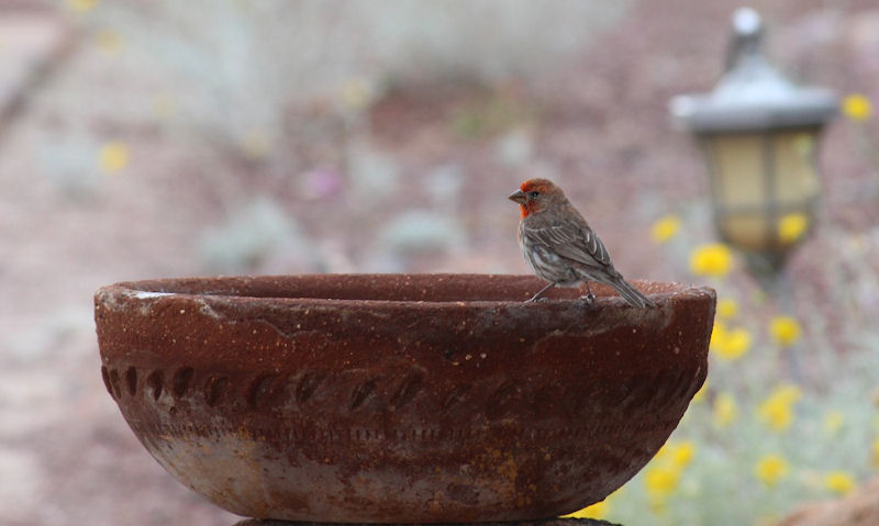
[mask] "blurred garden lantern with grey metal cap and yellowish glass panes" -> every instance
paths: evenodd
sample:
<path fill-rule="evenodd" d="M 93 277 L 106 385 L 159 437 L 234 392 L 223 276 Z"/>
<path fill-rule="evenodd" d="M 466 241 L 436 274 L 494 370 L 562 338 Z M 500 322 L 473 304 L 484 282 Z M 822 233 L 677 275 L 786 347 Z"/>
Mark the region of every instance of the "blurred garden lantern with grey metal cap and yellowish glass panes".
<path fill-rule="evenodd" d="M 733 29 L 714 90 L 676 97 L 669 110 L 704 152 L 720 237 L 755 269 L 777 273 L 815 226 L 817 145 L 838 99 L 793 85 L 767 61 L 756 11 L 738 9 Z"/>

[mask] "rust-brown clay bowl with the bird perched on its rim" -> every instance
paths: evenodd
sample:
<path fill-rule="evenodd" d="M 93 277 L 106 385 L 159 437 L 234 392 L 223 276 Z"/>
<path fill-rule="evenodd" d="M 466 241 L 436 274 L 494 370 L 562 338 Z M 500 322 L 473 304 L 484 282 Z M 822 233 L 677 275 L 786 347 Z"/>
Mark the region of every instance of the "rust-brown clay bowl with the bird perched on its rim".
<path fill-rule="evenodd" d="M 231 512 L 526 521 L 632 478 L 706 373 L 711 289 L 524 303 L 526 276 L 119 283 L 94 296 L 107 389 L 156 460 Z"/>

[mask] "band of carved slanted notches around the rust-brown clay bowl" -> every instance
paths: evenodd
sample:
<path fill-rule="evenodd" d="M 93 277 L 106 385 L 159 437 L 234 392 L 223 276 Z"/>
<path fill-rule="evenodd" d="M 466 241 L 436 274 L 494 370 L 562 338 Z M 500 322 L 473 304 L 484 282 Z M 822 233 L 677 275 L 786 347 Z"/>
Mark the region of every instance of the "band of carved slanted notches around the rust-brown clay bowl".
<path fill-rule="evenodd" d="M 160 369 L 149 371 L 145 376 L 138 373 L 134 366 L 129 366 L 124 370 L 123 377 L 119 369 L 101 368 L 107 391 L 116 401 L 123 396 L 144 396 L 147 401 L 158 402 L 163 393 L 167 393 Z M 177 367 L 175 371 L 173 389 L 170 394 L 166 394 L 167 396 L 178 401 L 190 400 L 196 404 L 203 402 L 209 407 L 241 405 L 253 412 L 302 407 L 309 403 L 318 389 L 337 394 L 341 389 L 352 383 L 351 379 L 342 378 L 341 381 L 334 382 L 323 372 L 307 371 L 298 378 L 290 374 L 257 373 L 242 379 L 241 385 L 235 385 L 229 376 L 218 376 L 210 371 L 200 373 L 188 366 Z M 370 405 L 368 403 L 370 401 L 372 401 L 370 407 L 377 413 L 402 411 L 418 398 L 424 382 L 421 373 L 404 376 L 386 401 L 379 395 L 379 385 L 390 380 L 368 376 L 368 371 L 363 371 L 361 374 L 364 378 L 354 382 L 349 393 L 342 394 L 342 398 L 348 401 L 346 409 L 349 413 Z M 140 381 L 138 378 L 144 380 Z M 509 379 L 500 385 L 492 387 L 497 383 L 497 379 L 488 377 L 474 384 L 452 387 L 447 393 L 437 398 L 442 403 L 434 410 L 447 413 L 466 403 L 470 407 L 482 407 L 488 421 L 501 419 L 514 407 L 521 406 L 531 407 L 535 415 L 559 410 L 568 414 L 583 415 L 588 414 L 590 406 L 603 396 L 600 405 L 611 405 L 621 413 L 636 412 L 643 407 L 661 412 L 668 404 L 674 404 L 681 398 L 689 400 L 698 385 L 701 385 L 697 379 L 698 373 L 682 370 L 634 376 L 617 390 L 578 389 L 577 392 L 566 392 L 563 385 L 554 381 L 535 384 Z M 202 388 L 193 389 L 192 385 Z M 485 394 L 480 400 L 474 396 L 475 392 Z"/>

